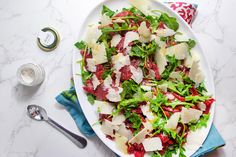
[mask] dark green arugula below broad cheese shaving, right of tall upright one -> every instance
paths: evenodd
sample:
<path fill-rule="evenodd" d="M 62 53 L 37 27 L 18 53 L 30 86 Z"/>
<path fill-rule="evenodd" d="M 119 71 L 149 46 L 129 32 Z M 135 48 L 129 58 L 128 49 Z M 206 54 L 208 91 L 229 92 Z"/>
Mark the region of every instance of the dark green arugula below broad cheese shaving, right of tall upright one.
<path fill-rule="evenodd" d="M 170 76 L 170 73 L 175 70 L 176 67 L 179 66 L 180 62 L 175 58 L 175 56 L 166 56 L 168 60 L 168 65 L 165 70 L 161 74 L 162 79 L 167 79 Z"/>

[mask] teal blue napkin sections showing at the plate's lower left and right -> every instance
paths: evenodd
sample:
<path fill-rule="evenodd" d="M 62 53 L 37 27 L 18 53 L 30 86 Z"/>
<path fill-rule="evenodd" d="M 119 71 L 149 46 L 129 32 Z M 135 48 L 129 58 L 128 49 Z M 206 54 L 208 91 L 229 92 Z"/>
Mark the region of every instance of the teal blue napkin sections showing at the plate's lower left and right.
<path fill-rule="evenodd" d="M 80 107 L 80 103 L 77 99 L 74 87 L 71 87 L 69 90 L 62 92 L 56 97 L 56 100 L 59 104 L 66 107 L 67 111 L 73 117 L 81 133 L 83 133 L 87 137 L 95 135 L 93 129 L 90 127 Z M 194 155 L 192 155 L 192 157 L 203 156 L 224 145 L 225 142 L 223 138 L 220 136 L 215 126 L 212 125 L 207 139 L 203 143 L 202 147 Z"/>

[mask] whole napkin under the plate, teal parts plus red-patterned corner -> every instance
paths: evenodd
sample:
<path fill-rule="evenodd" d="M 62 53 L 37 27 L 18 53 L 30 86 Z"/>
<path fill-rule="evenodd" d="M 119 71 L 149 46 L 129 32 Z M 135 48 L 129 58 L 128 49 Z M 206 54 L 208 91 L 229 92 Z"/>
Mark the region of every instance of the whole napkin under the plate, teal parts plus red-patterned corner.
<path fill-rule="evenodd" d="M 168 2 L 166 3 L 170 8 L 175 10 L 188 23 L 191 24 L 196 15 L 196 4 L 189 4 L 185 2 Z M 56 100 L 61 105 L 65 106 L 67 111 L 73 117 L 79 130 L 87 137 L 94 136 L 95 133 L 87 122 L 84 113 L 80 107 L 77 99 L 75 88 L 71 87 L 69 90 L 62 92 L 56 97 Z M 225 145 L 223 138 L 220 136 L 215 126 L 212 125 L 210 132 L 203 143 L 202 147 L 192 155 L 192 157 L 203 156 L 219 147 Z"/>

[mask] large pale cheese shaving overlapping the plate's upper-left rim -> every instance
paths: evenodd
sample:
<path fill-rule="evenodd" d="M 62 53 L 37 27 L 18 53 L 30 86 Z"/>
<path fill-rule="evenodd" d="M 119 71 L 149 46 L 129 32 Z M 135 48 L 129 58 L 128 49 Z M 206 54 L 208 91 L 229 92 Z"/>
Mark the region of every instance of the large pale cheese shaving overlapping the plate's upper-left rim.
<path fill-rule="evenodd" d="M 86 35 L 84 41 L 87 43 L 89 47 L 93 47 L 93 44 L 96 43 L 98 38 L 102 35 L 100 29 L 98 29 L 98 25 L 89 25 L 86 30 Z"/>

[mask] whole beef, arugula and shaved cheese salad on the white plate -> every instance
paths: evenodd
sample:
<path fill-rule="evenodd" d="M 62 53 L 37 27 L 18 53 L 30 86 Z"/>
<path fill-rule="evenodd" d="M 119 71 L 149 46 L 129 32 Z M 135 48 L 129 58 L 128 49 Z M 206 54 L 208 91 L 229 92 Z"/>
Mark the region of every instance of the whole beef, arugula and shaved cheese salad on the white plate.
<path fill-rule="evenodd" d="M 183 157 L 189 133 L 207 126 L 214 102 L 196 42 L 178 31 L 176 18 L 132 4 L 120 11 L 103 6 L 99 22 L 75 44 L 83 89 L 120 151 Z"/>

